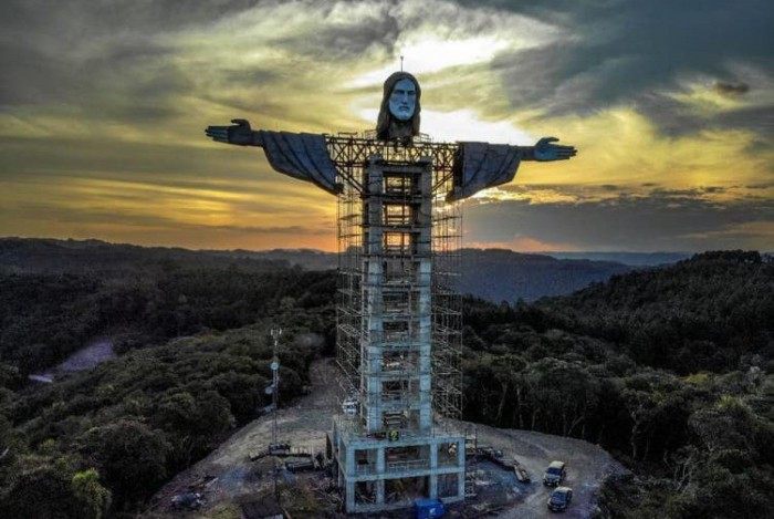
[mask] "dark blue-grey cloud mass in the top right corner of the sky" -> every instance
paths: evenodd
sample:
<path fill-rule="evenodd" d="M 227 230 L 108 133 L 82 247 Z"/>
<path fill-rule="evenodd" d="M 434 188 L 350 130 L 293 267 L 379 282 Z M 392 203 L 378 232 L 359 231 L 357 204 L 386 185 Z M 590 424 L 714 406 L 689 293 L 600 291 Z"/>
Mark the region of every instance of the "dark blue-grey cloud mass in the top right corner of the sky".
<path fill-rule="evenodd" d="M 548 46 L 495 59 L 494 66 L 502 74 L 514 106 L 537 105 L 550 115 L 563 115 L 588 114 L 634 102 L 671 133 L 708 124 L 771 129 L 770 111 L 697 121 L 674 100 L 658 93 L 681 92 L 684 81 L 695 76 L 714 77 L 714 90 L 724 95 L 741 96 L 771 89 L 768 72 L 747 80 L 739 76 L 743 72 L 734 65 L 771 71 L 772 2 L 620 0 L 494 4 L 557 24 L 566 29 L 568 37 Z"/>

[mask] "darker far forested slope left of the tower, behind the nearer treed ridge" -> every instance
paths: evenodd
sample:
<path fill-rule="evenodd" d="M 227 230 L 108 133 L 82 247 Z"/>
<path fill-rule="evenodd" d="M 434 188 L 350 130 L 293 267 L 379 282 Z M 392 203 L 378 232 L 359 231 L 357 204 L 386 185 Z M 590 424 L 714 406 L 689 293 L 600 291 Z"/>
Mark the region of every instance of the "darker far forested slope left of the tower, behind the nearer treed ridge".
<path fill-rule="evenodd" d="M 109 334 L 119 352 L 206 330 L 229 330 L 275 312 L 330 304 L 331 273 L 181 268 L 145 273 L 20 274 L 0 271 L 0 359 L 27 374 Z M 297 301 L 296 301 L 297 299 Z M 2 377 L 2 372 L 0 372 Z"/>

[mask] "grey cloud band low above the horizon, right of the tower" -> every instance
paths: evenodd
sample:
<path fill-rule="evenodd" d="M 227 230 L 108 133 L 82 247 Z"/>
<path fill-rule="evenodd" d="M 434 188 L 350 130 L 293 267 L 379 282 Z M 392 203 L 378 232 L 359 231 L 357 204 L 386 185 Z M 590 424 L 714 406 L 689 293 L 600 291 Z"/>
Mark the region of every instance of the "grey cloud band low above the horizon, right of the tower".
<path fill-rule="evenodd" d="M 466 233 L 478 242 L 530 236 L 585 250 L 705 250 L 761 242 L 750 225 L 774 220 L 774 200 L 749 197 L 720 204 L 702 197 L 704 191 L 658 189 L 647 197 L 619 195 L 577 204 L 471 206 L 466 209 Z"/>

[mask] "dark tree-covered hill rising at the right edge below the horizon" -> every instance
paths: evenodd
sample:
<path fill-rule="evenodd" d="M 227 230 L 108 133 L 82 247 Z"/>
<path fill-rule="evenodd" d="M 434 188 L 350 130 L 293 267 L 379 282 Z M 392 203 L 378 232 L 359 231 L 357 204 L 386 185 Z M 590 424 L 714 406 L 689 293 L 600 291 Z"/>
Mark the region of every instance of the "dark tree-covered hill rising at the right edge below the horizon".
<path fill-rule="evenodd" d="M 774 262 L 719 251 L 616 276 L 537 308 L 557 326 L 621 344 L 636 362 L 678 373 L 726 371 L 774 347 Z"/>

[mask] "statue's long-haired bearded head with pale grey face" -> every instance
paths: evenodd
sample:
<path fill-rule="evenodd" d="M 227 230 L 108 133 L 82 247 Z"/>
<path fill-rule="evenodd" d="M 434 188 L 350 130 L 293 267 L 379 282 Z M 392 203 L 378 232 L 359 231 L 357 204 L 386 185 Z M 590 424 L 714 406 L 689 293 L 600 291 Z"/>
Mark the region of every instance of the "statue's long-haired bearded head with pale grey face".
<path fill-rule="evenodd" d="M 417 79 L 408 72 L 394 72 L 385 81 L 376 136 L 380 139 L 414 137 L 419 134 L 419 97 Z"/>

